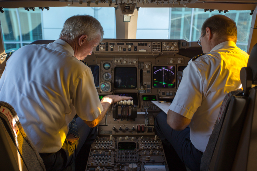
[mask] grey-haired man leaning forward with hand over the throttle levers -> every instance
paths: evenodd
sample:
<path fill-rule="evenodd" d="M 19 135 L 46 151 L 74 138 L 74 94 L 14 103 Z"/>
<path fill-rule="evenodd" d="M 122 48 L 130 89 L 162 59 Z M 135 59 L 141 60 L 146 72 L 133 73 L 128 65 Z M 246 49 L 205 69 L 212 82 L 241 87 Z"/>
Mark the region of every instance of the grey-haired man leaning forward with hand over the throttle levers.
<path fill-rule="evenodd" d="M 75 15 L 65 21 L 58 40 L 23 46 L 6 63 L 0 99 L 14 107 L 47 170 L 71 165 L 81 148 L 93 143 L 110 105 L 132 99 L 107 95 L 100 101 L 90 66 L 80 61 L 103 34 L 94 17 Z"/>

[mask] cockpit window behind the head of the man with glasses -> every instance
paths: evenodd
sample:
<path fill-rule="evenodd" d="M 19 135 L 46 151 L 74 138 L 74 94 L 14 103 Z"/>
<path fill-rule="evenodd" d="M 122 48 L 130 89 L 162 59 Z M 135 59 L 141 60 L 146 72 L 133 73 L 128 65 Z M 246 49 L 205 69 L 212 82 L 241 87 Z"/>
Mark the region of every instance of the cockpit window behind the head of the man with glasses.
<path fill-rule="evenodd" d="M 230 10 L 219 13 L 215 10 L 210 13 L 196 8 L 140 8 L 136 38 L 197 41 L 200 38 L 203 22 L 217 14 L 226 15 L 236 22 L 238 29 L 236 44 L 246 51 L 252 21 L 249 11 Z"/>

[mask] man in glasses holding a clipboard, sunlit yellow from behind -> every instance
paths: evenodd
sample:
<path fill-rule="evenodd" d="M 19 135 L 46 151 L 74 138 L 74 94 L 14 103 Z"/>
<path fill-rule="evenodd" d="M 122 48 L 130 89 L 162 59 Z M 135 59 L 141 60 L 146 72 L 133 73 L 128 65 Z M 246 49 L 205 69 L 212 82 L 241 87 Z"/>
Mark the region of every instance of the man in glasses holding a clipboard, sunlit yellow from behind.
<path fill-rule="evenodd" d="M 170 162 L 182 161 L 190 170 L 200 170 L 222 101 L 241 87 L 240 70 L 247 66 L 249 55 L 236 41 L 232 19 L 214 15 L 204 21 L 198 40 L 203 54 L 188 62 L 168 113 L 161 112 L 155 119 L 165 151 L 174 152 Z"/>

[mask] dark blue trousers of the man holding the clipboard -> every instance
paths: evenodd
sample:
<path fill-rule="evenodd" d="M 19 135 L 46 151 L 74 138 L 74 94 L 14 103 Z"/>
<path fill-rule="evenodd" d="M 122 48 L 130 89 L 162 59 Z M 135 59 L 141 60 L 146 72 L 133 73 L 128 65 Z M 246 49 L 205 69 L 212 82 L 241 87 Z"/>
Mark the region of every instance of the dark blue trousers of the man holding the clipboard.
<path fill-rule="evenodd" d="M 202 152 L 197 150 L 190 141 L 189 126 L 182 131 L 175 131 L 167 124 L 167 114 L 160 112 L 155 118 L 155 130 L 160 137 L 164 146 L 164 153 L 166 158 L 173 158 L 171 160 L 180 160 L 192 171 L 200 170 L 200 162 Z M 171 154 L 176 151 L 176 154 Z M 170 157 L 167 157 L 170 155 Z M 169 161 L 168 161 L 169 162 Z M 171 161 L 172 162 L 172 161 Z M 176 163 L 175 163 L 176 164 Z M 177 163 L 178 164 L 178 163 Z M 176 169 L 178 170 L 178 169 Z"/>

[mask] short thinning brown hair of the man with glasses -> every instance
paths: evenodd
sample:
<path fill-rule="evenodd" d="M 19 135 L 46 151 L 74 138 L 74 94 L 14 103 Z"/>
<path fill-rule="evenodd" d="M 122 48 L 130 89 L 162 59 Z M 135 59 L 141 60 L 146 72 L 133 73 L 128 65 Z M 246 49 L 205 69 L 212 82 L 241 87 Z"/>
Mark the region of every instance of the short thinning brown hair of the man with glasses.
<path fill-rule="evenodd" d="M 206 19 L 202 25 L 202 33 L 209 27 L 212 34 L 216 34 L 216 41 L 231 40 L 236 43 L 236 23 L 225 15 L 214 15 Z"/>

